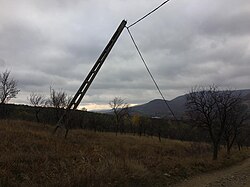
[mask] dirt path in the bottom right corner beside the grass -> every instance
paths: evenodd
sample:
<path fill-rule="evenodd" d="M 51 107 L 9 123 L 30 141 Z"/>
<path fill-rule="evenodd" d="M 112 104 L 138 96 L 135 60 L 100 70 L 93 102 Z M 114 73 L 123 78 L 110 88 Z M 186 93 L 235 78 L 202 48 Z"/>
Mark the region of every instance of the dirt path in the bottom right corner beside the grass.
<path fill-rule="evenodd" d="M 250 159 L 227 169 L 196 176 L 173 187 L 250 187 Z"/>

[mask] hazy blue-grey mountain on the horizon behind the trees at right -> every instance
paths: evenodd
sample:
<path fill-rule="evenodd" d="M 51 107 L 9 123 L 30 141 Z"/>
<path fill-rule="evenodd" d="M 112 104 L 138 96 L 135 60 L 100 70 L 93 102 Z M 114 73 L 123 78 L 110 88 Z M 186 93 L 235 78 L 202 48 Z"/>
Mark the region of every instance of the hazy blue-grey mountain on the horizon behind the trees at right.
<path fill-rule="evenodd" d="M 242 100 L 245 104 L 250 106 L 250 89 L 247 90 L 236 90 L 236 94 L 241 94 Z M 167 101 L 167 104 L 175 114 L 177 118 L 184 115 L 186 107 L 186 95 L 181 95 L 173 100 Z M 132 114 L 141 114 L 151 117 L 164 117 L 172 116 L 170 110 L 168 109 L 166 103 L 162 99 L 155 99 L 146 104 L 137 105 L 130 107 L 130 112 Z"/>

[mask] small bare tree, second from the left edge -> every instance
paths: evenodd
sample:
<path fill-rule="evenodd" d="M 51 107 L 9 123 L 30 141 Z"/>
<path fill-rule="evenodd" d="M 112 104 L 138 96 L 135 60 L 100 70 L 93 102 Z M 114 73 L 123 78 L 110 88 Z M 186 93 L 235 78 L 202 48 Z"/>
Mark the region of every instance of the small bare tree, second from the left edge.
<path fill-rule="evenodd" d="M 40 94 L 36 94 L 36 93 L 31 93 L 30 97 L 28 98 L 29 102 L 31 105 L 33 105 L 35 107 L 35 113 L 36 113 L 36 120 L 39 123 L 39 112 L 41 111 L 41 107 L 45 105 L 45 97 L 40 95 Z"/>

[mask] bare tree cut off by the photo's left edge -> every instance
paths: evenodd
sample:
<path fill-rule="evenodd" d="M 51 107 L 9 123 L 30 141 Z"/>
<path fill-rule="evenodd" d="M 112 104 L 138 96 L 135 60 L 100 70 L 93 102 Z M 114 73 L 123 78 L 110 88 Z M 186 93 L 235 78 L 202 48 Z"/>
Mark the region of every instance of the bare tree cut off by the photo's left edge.
<path fill-rule="evenodd" d="M 7 103 L 10 99 L 15 98 L 19 92 L 17 81 L 10 78 L 10 71 L 6 70 L 0 74 L 0 104 Z"/>

